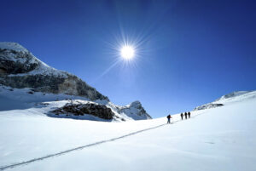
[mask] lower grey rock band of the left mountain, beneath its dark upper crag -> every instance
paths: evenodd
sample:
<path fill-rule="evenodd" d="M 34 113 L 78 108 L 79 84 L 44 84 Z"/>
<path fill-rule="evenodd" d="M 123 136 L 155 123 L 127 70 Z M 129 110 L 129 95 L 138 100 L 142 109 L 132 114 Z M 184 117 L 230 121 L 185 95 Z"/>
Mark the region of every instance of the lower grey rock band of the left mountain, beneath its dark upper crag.
<path fill-rule="evenodd" d="M 108 97 L 97 92 L 95 88 L 84 83 L 79 77 L 69 74 L 67 77 L 40 74 L 15 77 L 3 75 L 2 78 L 0 84 L 12 88 L 34 88 L 35 91 L 39 92 L 78 95 L 90 100 L 108 100 Z"/>

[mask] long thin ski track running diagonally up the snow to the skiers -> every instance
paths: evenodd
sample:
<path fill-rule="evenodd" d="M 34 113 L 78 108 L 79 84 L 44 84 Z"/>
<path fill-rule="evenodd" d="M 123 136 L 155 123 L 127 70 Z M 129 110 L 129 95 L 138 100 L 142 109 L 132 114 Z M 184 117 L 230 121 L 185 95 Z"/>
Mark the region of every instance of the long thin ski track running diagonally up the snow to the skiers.
<path fill-rule="evenodd" d="M 177 121 L 172 122 L 172 123 L 177 123 L 177 122 L 179 122 L 179 121 L 181 121 L 181 120 L 177 120 Z M 167 124 L 165 123 L 165 124 L 160 124 L 160 125 L 155 126 L 155 127 L 145 128 L 145 129 L 142 129 L 142 130 L 139 130 L 139 131 L 130 133 L 130 134 L 125 134 L 125 135 L 119 136 L 119 137 L 117 137 L 117 138 L 113 138 L 113 139 L 109 139 L 109 140 L 98 141 L 98 142 L 95 142 L 95 143 L 91 143 L 91 144 L 89 144 L 89 145 L 83 145 L 83 146 L 79 146 L 79 147 L 76 147 L 76 148 L 73 148 L 73 149 L 69 149 L 69 150 L 67 150 L 67 151 L 60 151 L 60 152 L 57 152 L 57 153 L 55 153 L 55 154 L 50 154 L 50 155 L 48 155 L 48 156 L 34 158 L 34 159 L 32 159 L 32 160 L 28 160 L 28 161 L 25 161 L 25 162 L 13 163 L 13 164 L 10 164 L 10 165 L 8 165 L 8 166 L 2 166 L 2 167 L 0 168 L 0 170 L 5 170 L 5 169 L 8 169 L 8 168 L 15 168 L 15 167 L 18 167 L 18 166 L 22 166 L 22 165 L 29 164 L 29 163 L 31 163 L 31 162 L 38 162 L 38 161 L 47 159 L 47 158 L 49 158 L 49 157 L 58 157 L 58 156 L 67 154 L 68 152 L 79 151 L 79 150 L 82 150 L 82 149 L 87 148 L 87 147 L 90 147 L 90 146 L 101 145 L 101 144 L 103 144 L 103 143 L 108 143 L 108 142 L 111 142 L 111 141 L 114 141 L 114 140 L 123 139 L 123 138 L 125 138 L 125 137 L 129 137 L 129 136 L 134 135 L 134 134 L 139 134 L 139 133 L 142 133 L 142 132 L 145 132 L 145 131 L 154 129 L 154 128 L 160 128 L 160 127 L 163 127 L 163 126 L 165 126 L 165 125 L 167 125 Z"/>

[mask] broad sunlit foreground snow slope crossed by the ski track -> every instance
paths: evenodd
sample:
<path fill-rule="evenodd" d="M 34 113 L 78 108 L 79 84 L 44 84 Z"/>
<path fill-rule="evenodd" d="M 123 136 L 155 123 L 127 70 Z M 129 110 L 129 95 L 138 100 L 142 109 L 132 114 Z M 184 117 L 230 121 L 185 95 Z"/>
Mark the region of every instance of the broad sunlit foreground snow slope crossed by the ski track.
<path fill-rule="evenodd" d="M 256 98 L 235 99 L 188 120 L 172 115 L 168 125 L 166 117 L 102 123 L 36 107 L 0 111 L 0 170 L 254 171 Z"/>

